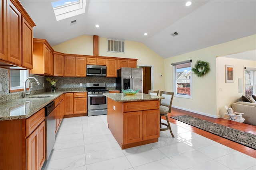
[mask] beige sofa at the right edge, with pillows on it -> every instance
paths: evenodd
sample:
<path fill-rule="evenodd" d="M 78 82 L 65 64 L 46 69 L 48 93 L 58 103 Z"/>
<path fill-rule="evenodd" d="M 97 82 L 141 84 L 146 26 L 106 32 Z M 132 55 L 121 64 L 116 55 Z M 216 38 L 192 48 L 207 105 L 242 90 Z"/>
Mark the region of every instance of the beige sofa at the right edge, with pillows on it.
<path fill-rule="evenodd" d="M 236 102 L 232 104 L 232 109 L 244 113 L 244 123 L 256 126 L 256 103 Z"/>

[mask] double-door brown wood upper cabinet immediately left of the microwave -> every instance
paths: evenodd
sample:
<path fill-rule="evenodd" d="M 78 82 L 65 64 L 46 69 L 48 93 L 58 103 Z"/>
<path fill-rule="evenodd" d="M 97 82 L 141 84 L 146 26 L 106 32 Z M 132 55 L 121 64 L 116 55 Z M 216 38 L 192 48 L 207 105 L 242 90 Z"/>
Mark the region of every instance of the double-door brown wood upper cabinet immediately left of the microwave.
<path fill-rule="evenodd" d="M 64 76 L 86 77 L 86 57 L 64 57 Z"/>

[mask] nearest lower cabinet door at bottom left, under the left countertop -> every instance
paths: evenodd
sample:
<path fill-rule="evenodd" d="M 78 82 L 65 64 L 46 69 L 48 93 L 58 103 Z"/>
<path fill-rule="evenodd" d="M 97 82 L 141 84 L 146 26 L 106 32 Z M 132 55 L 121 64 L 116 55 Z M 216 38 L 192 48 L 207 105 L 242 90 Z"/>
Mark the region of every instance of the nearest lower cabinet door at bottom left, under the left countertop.
<path fill-rule="evenodd" d="M 26 139 L 26 169 L 38 170 L 38 129 Z"/>

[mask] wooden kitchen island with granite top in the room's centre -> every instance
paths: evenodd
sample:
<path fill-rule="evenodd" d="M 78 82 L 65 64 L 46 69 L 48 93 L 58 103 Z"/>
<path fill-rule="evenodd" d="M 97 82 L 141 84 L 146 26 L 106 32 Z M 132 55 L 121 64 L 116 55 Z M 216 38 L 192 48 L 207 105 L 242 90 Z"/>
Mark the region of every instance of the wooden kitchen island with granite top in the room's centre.
<path fill-rule="evenodd" d="M 108 98 L 108 128 L 122 149 L 158 141 L 159 100 L 163 97 L 143 93 L 103 95 Z"/>

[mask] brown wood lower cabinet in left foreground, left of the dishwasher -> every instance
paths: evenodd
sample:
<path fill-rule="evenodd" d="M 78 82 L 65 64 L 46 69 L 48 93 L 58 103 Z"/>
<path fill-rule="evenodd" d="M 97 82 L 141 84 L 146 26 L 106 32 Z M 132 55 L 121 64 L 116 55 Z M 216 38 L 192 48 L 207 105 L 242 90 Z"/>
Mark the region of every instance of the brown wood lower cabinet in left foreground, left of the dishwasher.
<path fill-rule="evenodd" d="M 45 162 L 44 108 L 27 119 L 0 121 L 0 170 L 40 170 Z"/>

